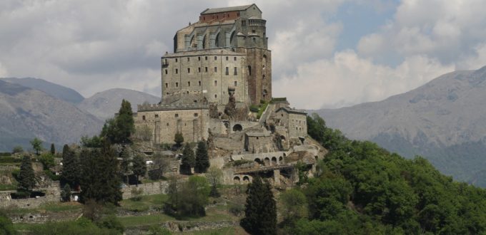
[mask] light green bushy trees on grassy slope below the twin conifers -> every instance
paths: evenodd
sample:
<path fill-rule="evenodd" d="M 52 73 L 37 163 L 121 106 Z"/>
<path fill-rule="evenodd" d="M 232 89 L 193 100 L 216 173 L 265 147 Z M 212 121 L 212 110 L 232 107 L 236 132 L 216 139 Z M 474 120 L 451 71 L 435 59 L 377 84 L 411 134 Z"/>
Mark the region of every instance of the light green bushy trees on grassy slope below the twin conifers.
<path fill-rule="evenodd" d="M 182 184 L 173 178 L 169 185 L 166 211 L 175 216 L 204 216 L 209 190 L 204 177 L 191 176 Z"/>

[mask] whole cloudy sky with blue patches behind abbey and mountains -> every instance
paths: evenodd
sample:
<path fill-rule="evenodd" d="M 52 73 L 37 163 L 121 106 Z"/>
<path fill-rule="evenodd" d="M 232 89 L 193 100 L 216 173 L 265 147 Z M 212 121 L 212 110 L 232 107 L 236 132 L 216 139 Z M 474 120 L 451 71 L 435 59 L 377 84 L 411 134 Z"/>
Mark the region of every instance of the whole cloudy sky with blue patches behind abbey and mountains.
<path fill-rule="evenodd" d="M 0 78 L 34 77 L 84 97 L 160 96 L 160 57 L 207 8 L 255 3 L 267 20 L 274 97 L 341 108 L 486 66 L 486 1 L 0 1 Z"/>

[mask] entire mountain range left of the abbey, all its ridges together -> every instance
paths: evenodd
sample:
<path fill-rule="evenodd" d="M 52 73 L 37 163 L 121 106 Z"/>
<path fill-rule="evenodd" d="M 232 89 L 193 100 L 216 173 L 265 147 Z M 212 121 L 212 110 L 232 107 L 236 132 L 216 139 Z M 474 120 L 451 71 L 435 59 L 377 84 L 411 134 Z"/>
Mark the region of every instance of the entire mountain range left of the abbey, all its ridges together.
<path fill-rule="evenodd" d="M 0 152 L 15 146 L 30 150 L 38 137 L 56 149 L 99 134 L 104 120 L 118 112 L 122 99 L 137 104 L 160 98 L 128 89 L 111 89 L 84 98 L 76 90 L 39 78 L 0 78 Z"/>

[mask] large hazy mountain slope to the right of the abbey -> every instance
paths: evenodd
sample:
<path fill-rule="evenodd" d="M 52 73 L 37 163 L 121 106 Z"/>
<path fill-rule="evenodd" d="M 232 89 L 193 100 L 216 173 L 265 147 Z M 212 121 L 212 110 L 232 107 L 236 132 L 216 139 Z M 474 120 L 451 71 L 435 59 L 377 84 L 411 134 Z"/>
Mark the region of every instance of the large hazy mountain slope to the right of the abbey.
<path fill-rule="evenodd" d="M 405 157 L 422 155 L 441 172 L 486 187 L 486 67 L 456 71 L 386 100 L 317 110 L 347 137 L 372 140 Z"/>

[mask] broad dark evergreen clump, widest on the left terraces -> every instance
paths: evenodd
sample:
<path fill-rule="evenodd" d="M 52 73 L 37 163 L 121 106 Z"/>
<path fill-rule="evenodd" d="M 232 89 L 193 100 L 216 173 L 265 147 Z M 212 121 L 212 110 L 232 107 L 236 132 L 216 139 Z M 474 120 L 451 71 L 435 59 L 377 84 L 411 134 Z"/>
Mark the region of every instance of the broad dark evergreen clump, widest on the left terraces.
<path fill-rule="evenodd" d="M 94 150 L 84 150 L 81 162 L 81 200 L 100 204 L 118 204 L 122 200 L 118 163 L 109 143 Z"/>

